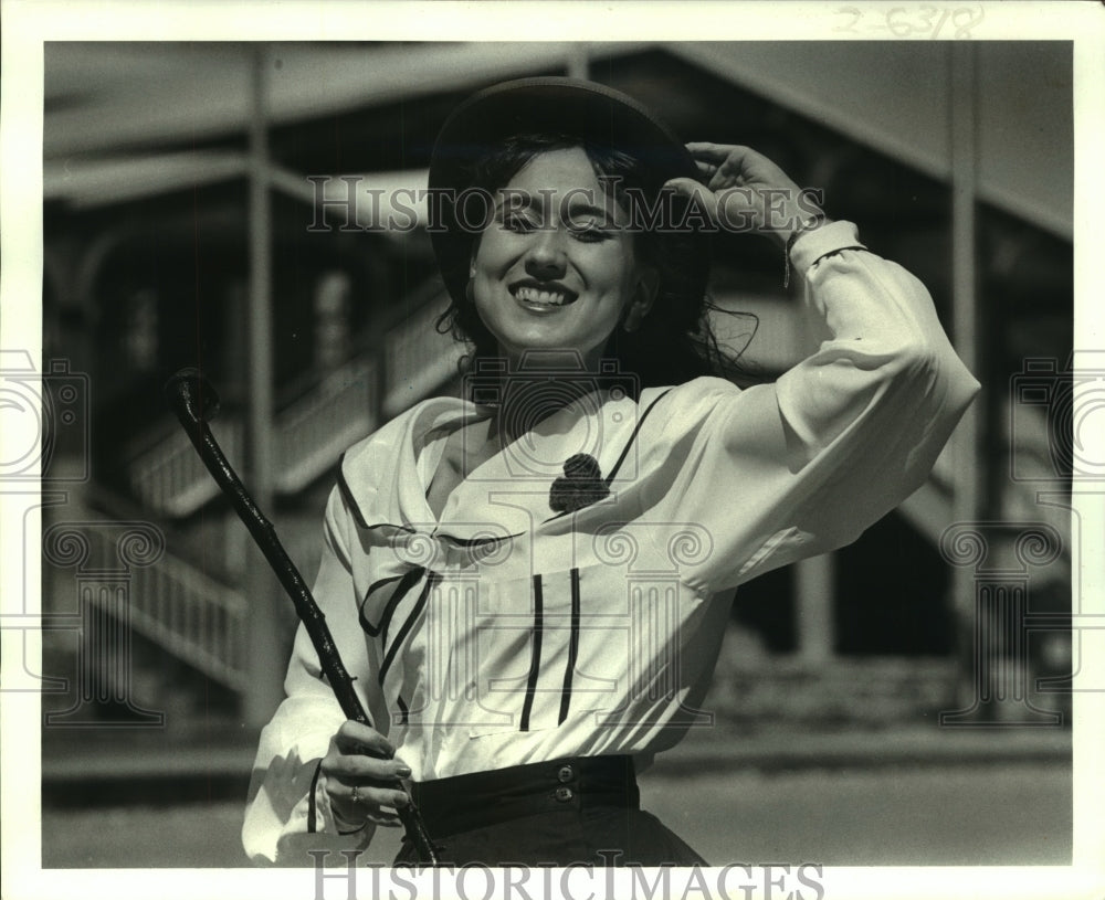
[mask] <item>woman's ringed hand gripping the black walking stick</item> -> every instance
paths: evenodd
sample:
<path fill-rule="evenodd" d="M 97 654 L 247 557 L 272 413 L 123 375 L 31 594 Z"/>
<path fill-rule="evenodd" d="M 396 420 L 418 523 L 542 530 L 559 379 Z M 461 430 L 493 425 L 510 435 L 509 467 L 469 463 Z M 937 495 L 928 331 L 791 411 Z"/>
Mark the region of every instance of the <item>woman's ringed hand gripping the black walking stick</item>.
<path fill-rule="evenodd" d="M 409 777 L 411 770 L 394 759 L 394 753 L 379 731 L 351 720 L 330 738 L 322 771 L 330 809 L 339 825 L 400 825 L 394 811 L 410 800 L 399 780 Z"/>

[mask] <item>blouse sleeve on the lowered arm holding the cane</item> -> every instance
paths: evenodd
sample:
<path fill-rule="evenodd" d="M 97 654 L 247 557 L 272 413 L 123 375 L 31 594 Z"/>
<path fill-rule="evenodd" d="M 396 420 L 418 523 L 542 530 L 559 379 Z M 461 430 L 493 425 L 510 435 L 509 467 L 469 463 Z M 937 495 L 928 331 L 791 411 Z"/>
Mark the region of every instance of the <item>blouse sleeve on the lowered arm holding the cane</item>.
<path fill-rule="evenodd" d="M 326 508 L 323 555 L 313 590 L 326 616 L 355 686 L 369 682 L 368 647 L 357 622 L 350 547 L 357 546 L 356 523 L 335 488 Z M 365 847 L 371 826 L 352 830 L 339 822 L 326 802 L 326 776 L 319 769 L 330 738 L 345 716 L 322 673 L 318 655 L 301 624 L 284 680 L 285 699 L 261 732 L 250 782 L 242 843 L 257 865 L 312 866 L 308 850 Z M 372 714 L 378 698 L 360 697 Z M 343 834 L 349 830 L 348 834 Z"/>

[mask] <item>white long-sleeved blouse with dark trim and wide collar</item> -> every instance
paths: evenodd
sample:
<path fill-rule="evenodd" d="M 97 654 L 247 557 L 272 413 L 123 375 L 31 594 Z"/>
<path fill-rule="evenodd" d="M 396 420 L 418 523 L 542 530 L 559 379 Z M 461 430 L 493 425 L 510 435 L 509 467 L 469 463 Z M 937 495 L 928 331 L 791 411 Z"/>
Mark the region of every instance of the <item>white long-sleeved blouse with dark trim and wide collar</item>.
<path fill-rule="evenodd" d="M 699 705 L 734 589 L 851 542 L 925 480 L 979 387 L 927 292 L 846 222 L 803 234 L 792 261 L 831 337 L 775 384 L 702 378 L 633 400 L 599 377 L 440 517 L 425 495 L 444 441 L 481 407 L 425 401 L 345 455 L 314 593 L 415 781 L 560 756 L 646 765 L 713 721 Z M 609 494 L 556 513 L 577 453 Z M 302 627 L 285 690 L 246 853 L 366 845 L 371 829 L 338 836 L 326 804 L 317 764 L 345 717 Z"/>

